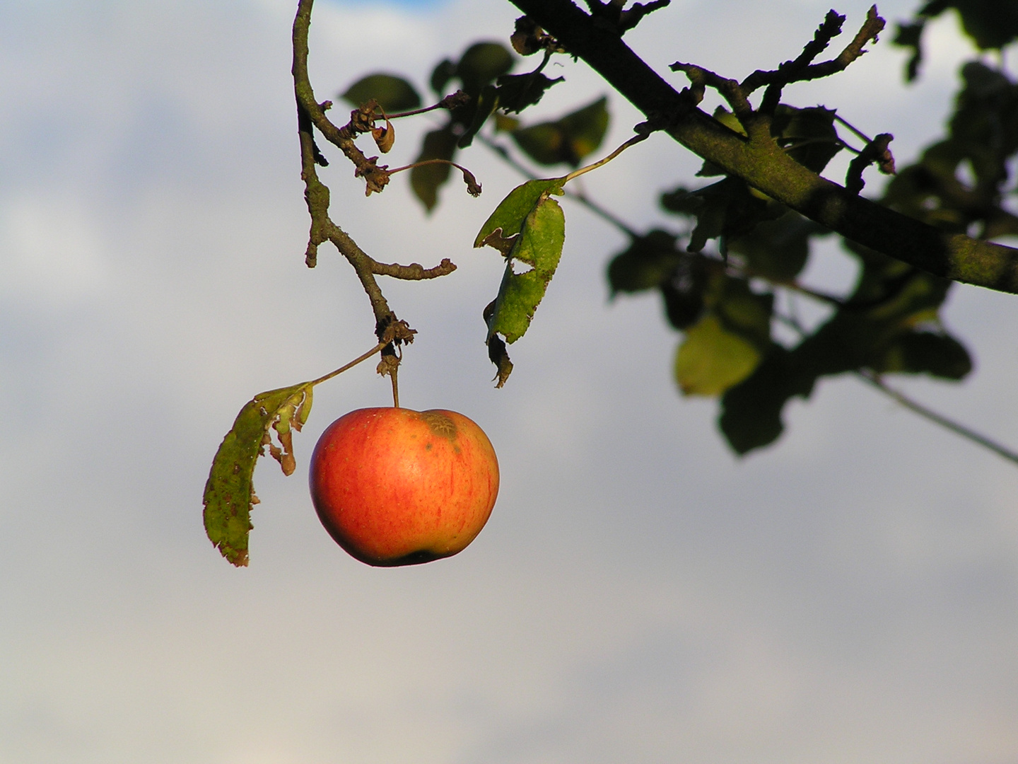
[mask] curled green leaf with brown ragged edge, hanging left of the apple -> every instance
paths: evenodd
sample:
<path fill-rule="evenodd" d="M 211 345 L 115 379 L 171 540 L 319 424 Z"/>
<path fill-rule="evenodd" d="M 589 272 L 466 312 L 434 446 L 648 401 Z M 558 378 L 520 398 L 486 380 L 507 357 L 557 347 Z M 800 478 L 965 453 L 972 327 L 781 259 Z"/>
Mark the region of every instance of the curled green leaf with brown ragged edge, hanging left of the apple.
<path fill-rule="evenodd" d="M 205 485 L 205 530 L 234 565 L 247 564 L 250 509 L 258 503 L 254 463 L 268 445 L 286 475 L 293 472 L 292 431 L 300 430 L 312 407 L 312 385 L 302 383 L 256 395 L 237 415 L 216 452 Z M 271 442 L 275 429 L 280 446 Z"/>

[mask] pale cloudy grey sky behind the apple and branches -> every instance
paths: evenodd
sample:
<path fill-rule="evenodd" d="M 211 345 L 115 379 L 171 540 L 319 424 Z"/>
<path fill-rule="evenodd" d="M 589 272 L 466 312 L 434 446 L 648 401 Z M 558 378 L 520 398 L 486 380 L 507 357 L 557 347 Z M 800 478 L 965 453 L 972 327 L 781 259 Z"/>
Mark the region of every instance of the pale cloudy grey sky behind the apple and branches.
<path fill-rule="evenodd" d="M 839 10 L 853 28 L 867 7 Z M 677 0 L 627 40 L 662 72 L 741 76 L 794 56 L 827 9 Z M 377 259 L 459 266 L 383 288 L 418 330 L 401 402 L 462 412 L 495 444 L 487 528 L 455 557 L 391 569 L 322 529 L 319 434 L 390 400 L 365 364 L 316 390 L 294 476 L 260 463 L 249 567 L 219 556 L 202 490 L 236 412 L 374 343 L 348 265 L 327 248 L 303 265 L 292 12 L 0 4 L 0 764 L 1018 760 L 1015 467 L 851 379 L 737 458 L 716 401 L 675 389 L 656 297 L 609 301 L 621 235 L 568 203 L 562 264 L 494 389 L 480 312 L 501 265 L 470 243 L 519 177 L 482 148 L 464 159 L 483 196 L 450 183 L 431 217 L 405 178 L 365 199 L 331 155 L 323 179 Z M 313 81 L 335 97 L 386 70 L 425 91 L 438 60 L 504 41 L 515 15 L 502 0 L 323 2 Z M 941 134 L 974 54 L 939 19 L 906 87 L 890 37 L 787 98 L 894 133 L 904 164 Z M 556 71 L 527 120 L 608 94 L 582 64 Z M 606 147 L 639 121 L 609 96 Z M 432 124 L 400 123 L 392 163 Z M 648 228 L 698 164 L 655 135 L 583 182 Z M 843 287 L 848 263 L 824 250 L 807 280 Z M 945 321 L 976 371 L 898 381 L 1012 446 L 1014 299 L 955 288 Z"/>

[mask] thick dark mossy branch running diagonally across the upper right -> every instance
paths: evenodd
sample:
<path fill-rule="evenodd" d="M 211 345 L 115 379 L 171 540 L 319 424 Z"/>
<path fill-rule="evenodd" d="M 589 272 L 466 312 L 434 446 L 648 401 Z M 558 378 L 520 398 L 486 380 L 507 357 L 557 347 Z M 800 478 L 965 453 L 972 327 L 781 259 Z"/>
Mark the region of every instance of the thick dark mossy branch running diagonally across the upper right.
<path fill-rule="evenodd" d="M 846 238 L 928 273 L 1018 293 L 1018 250 L 940 231 L 816 175 L 789 157 L 770 135 L 757 132 L 750 140 L 725 127 L 571 0 L 512 2 L 648 119 L 664 121 L 673 139 L 728 174 Z M 867 24 L 856 36 L 849 56 L 868 30 Z"/>

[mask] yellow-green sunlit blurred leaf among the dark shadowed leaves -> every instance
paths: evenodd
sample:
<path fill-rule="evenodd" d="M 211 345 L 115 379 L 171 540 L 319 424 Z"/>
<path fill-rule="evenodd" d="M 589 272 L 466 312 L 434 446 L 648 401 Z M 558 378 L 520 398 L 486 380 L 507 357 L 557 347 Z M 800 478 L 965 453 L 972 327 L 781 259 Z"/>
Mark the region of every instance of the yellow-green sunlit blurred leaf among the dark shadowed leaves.
<path fill-rule="evenodd" d="M 720 395 L 752 374 L 759 361 L 752 342 L 708 314 L 686 331 L 675 357 L 675 379 L 684 395 Z"/>

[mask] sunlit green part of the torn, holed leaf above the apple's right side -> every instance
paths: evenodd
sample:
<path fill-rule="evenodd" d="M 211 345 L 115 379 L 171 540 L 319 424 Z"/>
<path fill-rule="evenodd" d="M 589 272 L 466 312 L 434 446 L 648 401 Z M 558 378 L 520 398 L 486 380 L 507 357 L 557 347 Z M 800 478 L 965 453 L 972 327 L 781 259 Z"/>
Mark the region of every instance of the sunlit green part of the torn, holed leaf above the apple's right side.
<path fill-rule="evenodd" d="M 478 236 L 484 243 L 499 249 L 503 254 L 506 254 L 508 249 L 505 274 L 495 305 L 488 317 L 489 338 L 498 333 L 512 344 L 523 336 L 538 305 L 545 296 L 548 283 L 555 275 L 566 235 L 562 208 L 558 202 L 549 197 L 549 194 L 557 187 L 550 186 L 541 192 L 519 224 L 518 233 L 513 234 L 512 238 L 505 237 L 504 230 L 499 236 L 498 231 L 501 226 L 494 228 L 488 236 Z M 516 201 L 518 202 L 518 199 Z M 510 224 L 510 227 L 514 226 Z M 482 231 L 484 230 L 483 228 Z M 493 240 L 493 236 L 498 238 Z M 516 273 L 513 268 L 515 261 L 531 268 Z"/>

